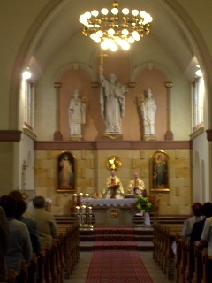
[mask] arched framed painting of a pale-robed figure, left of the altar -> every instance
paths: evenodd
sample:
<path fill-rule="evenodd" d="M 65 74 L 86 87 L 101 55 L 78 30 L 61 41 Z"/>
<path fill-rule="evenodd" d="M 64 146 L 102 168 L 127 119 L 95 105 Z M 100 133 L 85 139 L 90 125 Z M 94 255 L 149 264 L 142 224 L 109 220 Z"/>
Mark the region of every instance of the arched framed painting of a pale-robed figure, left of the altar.
<path fill-rule="evenodd" d="M 76 190 L 76 158 L 69 151 L 58 156 L 58 188 L 57 192 L 74 192 Z"/>

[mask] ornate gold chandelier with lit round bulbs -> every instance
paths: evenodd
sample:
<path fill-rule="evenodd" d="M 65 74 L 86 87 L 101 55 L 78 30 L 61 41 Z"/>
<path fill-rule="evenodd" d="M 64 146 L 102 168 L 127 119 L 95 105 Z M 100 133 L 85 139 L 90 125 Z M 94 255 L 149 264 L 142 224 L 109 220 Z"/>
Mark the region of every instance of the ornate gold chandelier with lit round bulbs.
<path fill-rule="evenodd" d="M 149 34 L 152 22 L 152 17 L 145 11 L 133 10 L 131 14 L 127 8 L 119 11 L 117 1 L 111 11 L 106 8 L 101 12 L 87 11 L 79 17 L 82 34 L 100 43 L 103 50 L 116 51 L 118 45 L 129 50 L 130 44 Z"/>

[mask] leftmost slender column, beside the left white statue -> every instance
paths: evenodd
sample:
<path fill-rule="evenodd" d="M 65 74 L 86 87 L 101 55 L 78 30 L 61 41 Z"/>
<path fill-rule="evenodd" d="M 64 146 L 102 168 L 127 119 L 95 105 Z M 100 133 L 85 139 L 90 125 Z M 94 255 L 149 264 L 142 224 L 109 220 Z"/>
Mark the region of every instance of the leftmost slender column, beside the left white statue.
<path fill-rule="evenodd" d="M 60 88 L 61 82 L 55 82 L 56 89 L 56 131 L 54 134 L 54 141 L 62 141 L 62 134 L 60 133 Z"/>

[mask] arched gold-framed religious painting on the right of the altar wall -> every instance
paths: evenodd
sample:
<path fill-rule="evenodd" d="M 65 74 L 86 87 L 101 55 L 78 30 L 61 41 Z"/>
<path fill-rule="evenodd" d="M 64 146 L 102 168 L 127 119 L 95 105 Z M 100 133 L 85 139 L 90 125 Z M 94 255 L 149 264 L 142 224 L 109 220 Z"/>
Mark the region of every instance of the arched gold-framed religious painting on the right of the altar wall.
<path fill-rule="evenodd" d="M 155 151 L 150 158 L 150 191 L 170 192 L 170 160 L 163 150 Z"/>

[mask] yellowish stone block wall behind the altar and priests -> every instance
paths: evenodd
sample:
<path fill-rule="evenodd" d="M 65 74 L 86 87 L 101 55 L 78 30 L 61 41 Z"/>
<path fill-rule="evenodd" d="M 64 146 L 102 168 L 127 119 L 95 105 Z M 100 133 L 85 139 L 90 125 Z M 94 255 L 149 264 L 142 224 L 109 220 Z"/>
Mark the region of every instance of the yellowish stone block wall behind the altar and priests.
<path fill-rule="evenodd" d="M 155 150 L 69 150 L 76 157 L 76 192 L 94 194 L 102 192 L 110 172 L 106 168 L 106 159 L 117 156 L 122 167 L 117 171 L 125 193 L 133 172 L 139 172 L 144 180 L 148 194 L 150 191 L 150 158 Z M 72 193 L 57 193 L 57 158 L 61 150 L 35 150 L 34 188 L 36 195 L 52 200 L 51 211 L 57 215 L 69 213 L 69 201 Z M 170 192 L 158 192 L 161 215 L 186 215 L 191 213 L 192 184 L 190 149 L 169 149 L 165 151 L 170 158 Z"/>

